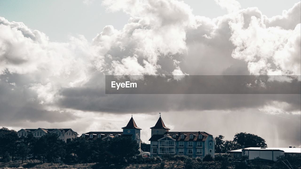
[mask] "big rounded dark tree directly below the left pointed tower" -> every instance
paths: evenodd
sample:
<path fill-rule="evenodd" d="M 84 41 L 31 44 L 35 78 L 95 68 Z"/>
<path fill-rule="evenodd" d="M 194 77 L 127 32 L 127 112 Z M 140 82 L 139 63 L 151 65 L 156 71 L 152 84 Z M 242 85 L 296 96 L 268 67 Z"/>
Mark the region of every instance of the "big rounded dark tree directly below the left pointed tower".
<path fill-rule="evenodd" d="M 139 144 L 137 141 L 127 136 L 115 137 L 110 140 L 108 145 L 108 151 L 119 162 L 129 160 L 129 158 L 138 155 L 140 153 L 138 149 Z"/>

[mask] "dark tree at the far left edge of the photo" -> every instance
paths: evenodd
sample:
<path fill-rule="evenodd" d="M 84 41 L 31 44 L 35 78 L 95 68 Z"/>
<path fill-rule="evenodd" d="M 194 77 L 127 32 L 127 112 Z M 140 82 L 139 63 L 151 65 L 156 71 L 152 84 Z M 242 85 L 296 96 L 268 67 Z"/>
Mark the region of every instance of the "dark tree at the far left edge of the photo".
<path fill-rule="evenodd" d="M 14 157 L 17 153 L 17 132 L 9 130 L 8 128 L 2 127 L 0 129 L 0 157 L 2 161 L 7 161 Z"/>

